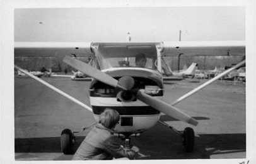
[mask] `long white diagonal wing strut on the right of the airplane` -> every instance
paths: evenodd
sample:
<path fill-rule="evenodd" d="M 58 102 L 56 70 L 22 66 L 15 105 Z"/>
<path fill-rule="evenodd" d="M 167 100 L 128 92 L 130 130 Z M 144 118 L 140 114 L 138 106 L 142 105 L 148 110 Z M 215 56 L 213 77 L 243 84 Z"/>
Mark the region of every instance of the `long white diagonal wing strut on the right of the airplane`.
<path fill-rule="evenodd" d="M 183 101 L 184 99 L 186 99 L 187 97 L 191 96 L 192 94 L 195 94 L 196 92 L 198 92 L 199 90 L 203 89 L 204 87 L 206 87 L 207 85 L 211 84 L 212 82 L 214 82 L 215 80 L 223 77 L 224 75 L 230 73 L 232 70 L 235 70 L 238 67 L 241 67 L 241 65 L 245 64 L 245 60 L 243 60 L 242 62 L 236 64 L 234 67 L 229 68 L 228 70 L 224 71 L 223 73 L 217 75 L 216 77 L 214 77 L 211 80 L 208 80 L 207 82 L 205 82 L 204 84 L 200 85 L 199 87 L 191 90 L 190 92 L 188 92 L 187 94 L 185 94 L 184 96 L 178 98 L 176 101 L 172 102 L 172 106 L 174 106 L 175 104 L 178 104 L 178 102 Z"/>

